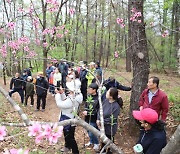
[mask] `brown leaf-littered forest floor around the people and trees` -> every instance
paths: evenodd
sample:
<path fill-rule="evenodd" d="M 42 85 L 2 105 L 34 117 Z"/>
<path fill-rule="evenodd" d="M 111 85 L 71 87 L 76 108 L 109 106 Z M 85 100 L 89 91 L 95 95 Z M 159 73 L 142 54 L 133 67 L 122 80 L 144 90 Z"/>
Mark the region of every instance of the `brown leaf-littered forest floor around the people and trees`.
<path fill-rule="evenodd" d="M 123 85 L 131 86 L 131 79 L 132 73 L 127 72 L 116 72 L 110 73 L 107 72 L 105 77 L 107 78 L 113 74 L 113 76 Z M 160 78 L 160 88 L 163 89 L 168 95 L 172 95 L 175 98 L 180 98 L 180 82 L 178 77 L 173 77 L 172 75 L 165 75 L 165 74 L 150 74 L 156 75 Z M 7 79 L 7 85 L 3 85 L 3 79 L 0 79 L 0 85 L 5 89 L 9 90 L 9 81 L 10 78 Z M 137 141 L 138 133 L 135 133 L 133 136 L 129 134 L 129 101 L 130 101 L 130 92 L 120 91 L 120 95 L 124 100 L 124 108 L 121 111 L 119 116 L 119 125 L 118 125 L 118 132 L 115 136 L 115 144 L 120 147 L 125 154 L 132 154 L 132 147 L 135 145 Z M 59 116 L 59 108 L 55 103 L 55 99 L 51 94 L 47 96 L 47 105 L 45 112 L 35 112 L 36 107 L 36 96 L 35 96 L 35 105 L 34 107 L 30 107 L 30 103 L 28 103 L 27 107 L 24 107 L 20 103 L 20 97 L 17 93 L 14 93 L 12 98 L 20 105 L 23 109 L 25 114 L 29 117 L 30 120 L 33 121 L 45 121 L 45 122 L 57 122 Z M 179 103 L 177 103 L 179 104 Z M 175 120 L 173 114 L 177 115 L 176 119 L 179 119 L 179 112 L 180 107 L 176 106 L 177 104 L 170 102 L 170 110 L 167 118 L 167 136 L 168 140 L 170 136 L 174 133 L 179 123 L 178 120 Z M 83 110 L 83 106 L 81 107 Z M 82 117 L 83 118 L 83 117 Z M 7 102 L 7 100 L 0 95 L 0 122 L 22 122 L 18 113 L 11 107 L 11 105 Z M 63 147 L 64 140 L 63 137 L 60 139 L 58 144 L 49 145 L 48 142 L 42 142 L 38 145 L 35 144 L 33 138 L 27 137 L 27 129 L 25 128 L 12 128 L 7 127 L 8 129 L 8 137 L 6 137 L 5 141 L 0 142 L 0 152 L 2 153 L 4 149 L 11 149 L 11 148 L 28 148 L 30 149 L 31 153 L 47 153 L 47 154 L 54 154 L 60 153 L 59 149 Z M 84 144 L 87 143 L 88 136 L 86 130 L 82 127 L 76 127 L 75 132 L 76 141 L 82 154 L 93 154 L 92 148 L 85 148 Z"/>

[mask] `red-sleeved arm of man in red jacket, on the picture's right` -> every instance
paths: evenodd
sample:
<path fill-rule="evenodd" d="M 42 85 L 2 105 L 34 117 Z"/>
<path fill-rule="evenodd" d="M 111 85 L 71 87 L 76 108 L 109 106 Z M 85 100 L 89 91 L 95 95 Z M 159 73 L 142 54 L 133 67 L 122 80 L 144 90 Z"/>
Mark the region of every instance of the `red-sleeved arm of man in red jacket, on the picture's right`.
<path fill-rule="evenodd" d="M 167 113 L 169 110 L 169 102 L 167 96 L 164 96 L 161 103 L 162 112 L 161 112 L 161 120 L 165 121 L 167 117 Z"/>

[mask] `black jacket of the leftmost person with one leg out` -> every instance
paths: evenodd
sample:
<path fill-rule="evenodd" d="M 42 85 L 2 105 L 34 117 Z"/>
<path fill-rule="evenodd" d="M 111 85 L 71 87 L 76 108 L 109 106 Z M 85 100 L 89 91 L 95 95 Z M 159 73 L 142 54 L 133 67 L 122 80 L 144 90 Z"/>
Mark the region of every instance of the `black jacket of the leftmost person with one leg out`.
<path fill-rule="evenodd" d="M 10 89 L 12 89 L 13 86 L 14 86 L 15 90 L 22 89 L 24 86 L 23 79 L 20 77 L 18 77 L 18 78 L 13 77 L 10 82 Z"/>

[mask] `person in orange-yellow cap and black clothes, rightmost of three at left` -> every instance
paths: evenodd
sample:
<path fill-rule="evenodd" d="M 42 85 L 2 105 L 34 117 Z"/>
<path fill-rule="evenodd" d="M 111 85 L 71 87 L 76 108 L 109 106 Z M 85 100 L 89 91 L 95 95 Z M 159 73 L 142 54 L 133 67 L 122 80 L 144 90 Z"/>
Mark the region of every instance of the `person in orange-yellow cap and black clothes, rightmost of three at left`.
<path fill-rule="evenodd" d="M 37 79 L 36 79 L 36 94 L 37 94 L 37 107 L 36 111 L 40 110 L 41 100 L 42 100 L 42 112 L 45 111 L 46 107 L 46 97 L 47 97 L 47 90 L 49 88 L 49 83 L 43 76 L 43 72 L 38 72 Z"/>

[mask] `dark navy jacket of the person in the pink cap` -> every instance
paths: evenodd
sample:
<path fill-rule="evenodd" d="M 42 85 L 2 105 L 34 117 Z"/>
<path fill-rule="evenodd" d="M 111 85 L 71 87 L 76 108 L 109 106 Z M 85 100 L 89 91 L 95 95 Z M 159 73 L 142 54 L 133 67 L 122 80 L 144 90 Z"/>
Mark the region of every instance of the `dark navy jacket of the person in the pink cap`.
<path fill-rule="evenodd" d="M 166 132 L 155 128 L 141 129 L 138 143 L 142 145 L 144 154 L 160 154 L 166 145 Z"/>

